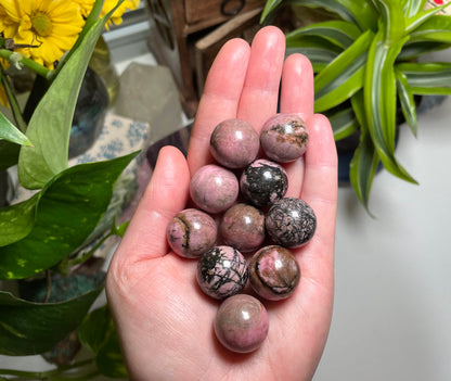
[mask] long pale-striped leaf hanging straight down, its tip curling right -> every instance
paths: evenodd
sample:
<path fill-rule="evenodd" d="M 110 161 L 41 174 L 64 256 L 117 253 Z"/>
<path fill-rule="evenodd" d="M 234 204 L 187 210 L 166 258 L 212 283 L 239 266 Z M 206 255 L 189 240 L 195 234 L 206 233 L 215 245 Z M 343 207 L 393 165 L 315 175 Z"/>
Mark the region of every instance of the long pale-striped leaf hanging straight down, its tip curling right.
<path fill-rule="evenodd" d="M 407 38 L 387 43 L 384 29 L 371 45 L 364 79 L 366 124 L 384 167 L 392 175 L 410 182 L 416 181 L 395 157 L 396 79 L 394 64 Z"/>

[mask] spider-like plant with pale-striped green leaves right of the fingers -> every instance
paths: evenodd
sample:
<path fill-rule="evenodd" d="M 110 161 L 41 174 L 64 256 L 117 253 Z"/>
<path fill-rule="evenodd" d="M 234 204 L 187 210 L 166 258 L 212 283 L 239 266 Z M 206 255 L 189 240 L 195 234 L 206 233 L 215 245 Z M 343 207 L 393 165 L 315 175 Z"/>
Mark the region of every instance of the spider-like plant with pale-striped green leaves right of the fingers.
<path fill-rule="evenodd" d="M 416 135 L 417 96 L 451 94 L 451 63 L 426 60 L 426 54 L 451 47 L 451 16 L 440 14 L 450 3 L 426 3 L 269 0 L 261 15 L 261 23 L 270 23 L 286 5 L 333 15 L 288 30 L 286 47 L 288 53 L 301 52 L 311 60 L 314 109 L 330 117 L 337 145 L 344 139 L 357 140 L 350 182 L 366 209 L 381 164 L 416 183 L 396 157 L 397 113 Z M 296 14 L 301 17 L 302 11 Z"/>

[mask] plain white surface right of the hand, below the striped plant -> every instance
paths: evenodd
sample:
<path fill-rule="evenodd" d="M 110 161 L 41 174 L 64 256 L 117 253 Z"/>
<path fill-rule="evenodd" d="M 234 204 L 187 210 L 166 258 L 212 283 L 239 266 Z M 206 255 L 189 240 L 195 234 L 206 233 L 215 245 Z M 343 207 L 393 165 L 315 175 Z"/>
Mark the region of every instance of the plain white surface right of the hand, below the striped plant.
<path fill-rule="evenodd" d="M 451 97 L 420 116 L 417 138 L 402 128 L 397 156 L 420 186 L 376 175 L 375 219 L 339 189 L 334 317 L 314 381 L 451 380 Z"/>

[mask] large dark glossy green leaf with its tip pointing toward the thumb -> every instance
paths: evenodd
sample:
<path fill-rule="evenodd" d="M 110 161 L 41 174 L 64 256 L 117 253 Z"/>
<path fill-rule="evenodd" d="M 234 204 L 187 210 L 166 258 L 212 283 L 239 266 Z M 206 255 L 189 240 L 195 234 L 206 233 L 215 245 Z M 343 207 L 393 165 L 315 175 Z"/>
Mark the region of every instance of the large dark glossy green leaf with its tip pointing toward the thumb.
<path fill-rule="evenodd" d="M 136 155 L 80 164 L 56 175 L 40 192 L 29 234 L 0 247 L 0 279 L 38 274 L 82 244 L 105 213 L 116 179 Z"/>

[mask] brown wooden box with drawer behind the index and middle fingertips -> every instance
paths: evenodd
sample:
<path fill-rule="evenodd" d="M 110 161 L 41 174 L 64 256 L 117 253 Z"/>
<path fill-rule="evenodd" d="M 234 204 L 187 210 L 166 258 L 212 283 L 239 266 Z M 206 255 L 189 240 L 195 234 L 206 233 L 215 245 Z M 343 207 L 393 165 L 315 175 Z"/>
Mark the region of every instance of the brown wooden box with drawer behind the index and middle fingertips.
<path fill-rule="evenodd" d="M 252 38 L 265 0 L 145 0 L 149 47 L 167 65 L 186 116 L 197 109 L 206 74 L 220 47 L 233 37 Z"/>

